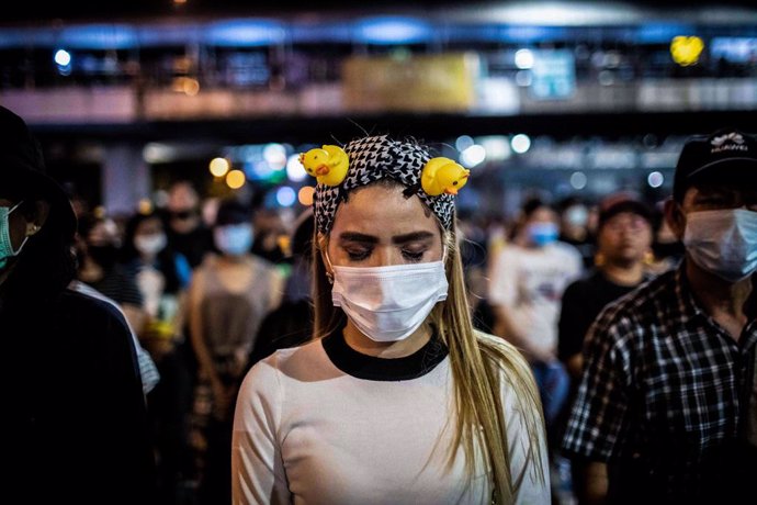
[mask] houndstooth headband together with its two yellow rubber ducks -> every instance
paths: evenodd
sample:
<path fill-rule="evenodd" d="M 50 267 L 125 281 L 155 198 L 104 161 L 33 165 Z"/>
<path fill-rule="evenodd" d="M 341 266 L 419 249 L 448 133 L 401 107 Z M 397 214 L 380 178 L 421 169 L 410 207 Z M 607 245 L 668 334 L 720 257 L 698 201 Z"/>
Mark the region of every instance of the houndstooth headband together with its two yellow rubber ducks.
<path fill-rule="evenodd" d="M 418 198 L 445 229 L 452 226 L 453 197 L 465 186 L 470 170 L 449 158 L 431 158 L 428 149 L 387 135 L 352 141 L 342 150 L 323 146 L 300 156 L 305 170 L 316 177 L 315 217 L 318 232 L 328 234 L 339 203 L 362 186 L 389 177 L 402 182 L 405 194 Z"/>

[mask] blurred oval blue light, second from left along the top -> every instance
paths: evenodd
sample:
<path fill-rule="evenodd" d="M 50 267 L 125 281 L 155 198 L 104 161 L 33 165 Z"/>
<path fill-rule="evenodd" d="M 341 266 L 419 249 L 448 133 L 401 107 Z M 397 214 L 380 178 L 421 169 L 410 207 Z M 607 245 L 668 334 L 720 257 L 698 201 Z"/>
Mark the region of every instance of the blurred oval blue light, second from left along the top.
<path fill-rule="evenodd" d="M 280 23 L 267 20 L 230 20 L 213 23 L 205 43 L 222 47 L 259 47 L 280 44 L 286 32 Z"/>

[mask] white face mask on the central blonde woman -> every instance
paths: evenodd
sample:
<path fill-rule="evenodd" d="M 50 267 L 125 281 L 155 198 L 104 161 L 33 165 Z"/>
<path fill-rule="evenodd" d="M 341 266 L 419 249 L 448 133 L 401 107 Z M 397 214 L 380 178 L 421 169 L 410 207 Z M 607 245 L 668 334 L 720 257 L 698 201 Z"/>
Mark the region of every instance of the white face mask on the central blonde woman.
<path fill-rule="evenodd" d="M 334 267 L 331 300 L 365 336 L 403 340 L 447 299 L 442 261 L 391 267 Z"/>

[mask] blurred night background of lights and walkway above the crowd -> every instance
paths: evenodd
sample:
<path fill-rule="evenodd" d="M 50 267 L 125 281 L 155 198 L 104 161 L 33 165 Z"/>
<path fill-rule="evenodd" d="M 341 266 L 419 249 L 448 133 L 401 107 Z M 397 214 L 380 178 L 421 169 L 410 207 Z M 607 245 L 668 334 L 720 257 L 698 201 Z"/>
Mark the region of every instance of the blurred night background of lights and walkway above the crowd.
<path fill-rule="evenodd" d="M 263 3 L 263 2 L 257 2 Z M 409 135 L 473 170 L 462 211 L 527 194 L 670 191 L 687 135 L 757 131 L 749 2 L 22 2 L 0 103 L 48 168 L 111 214 L 172 180 L 291 210 L 295 155 Z M 219 158 L 211 165 L 212 160 Z"/>

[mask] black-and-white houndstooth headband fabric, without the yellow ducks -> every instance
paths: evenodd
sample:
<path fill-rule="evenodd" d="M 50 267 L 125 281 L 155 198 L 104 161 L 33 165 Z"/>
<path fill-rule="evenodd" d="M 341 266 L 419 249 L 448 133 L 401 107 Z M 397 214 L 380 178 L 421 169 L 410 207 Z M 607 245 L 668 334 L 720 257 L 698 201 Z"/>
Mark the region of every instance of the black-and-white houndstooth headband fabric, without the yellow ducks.
<path fill-rule="evenodd" d="M 453 195 L 430 197 L 420 186 L 421 169 L 431 159 L 426 147 L 381 135 L 352 141 L 344 146 L 344 153 L 350 158 L 344 180 L 338 186 L 316 186 L 314 200 L 318 232 L 325 235 L 330 232 L 337 207 L 347 200 L 350 191 L 386 177 L 406 186 L 406 197 L 417 194 L 439 218 L 444 229 L 450 229 L 454 210 Z"/>

